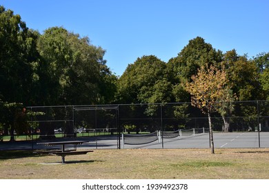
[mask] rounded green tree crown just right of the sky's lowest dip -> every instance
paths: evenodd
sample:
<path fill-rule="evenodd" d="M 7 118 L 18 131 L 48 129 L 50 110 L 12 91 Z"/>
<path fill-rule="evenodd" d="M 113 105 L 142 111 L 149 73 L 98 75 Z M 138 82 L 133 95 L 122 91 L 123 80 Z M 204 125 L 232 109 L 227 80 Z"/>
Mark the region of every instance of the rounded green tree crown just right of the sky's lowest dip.
<path fill-rule="evenodd" d="M 171 72 L 155 56 L 143 56 L 119 78 L 118 101 L 121 103 L 167 103 L 172 100 Z"/>

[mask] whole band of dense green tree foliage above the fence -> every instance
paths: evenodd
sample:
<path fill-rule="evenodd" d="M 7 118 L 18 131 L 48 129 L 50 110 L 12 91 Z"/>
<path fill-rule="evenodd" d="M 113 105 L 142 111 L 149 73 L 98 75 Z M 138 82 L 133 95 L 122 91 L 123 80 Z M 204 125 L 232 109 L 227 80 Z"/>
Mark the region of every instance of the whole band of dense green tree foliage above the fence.
<path fill-rule="evenodd" d="M 0 130 L 16 130 L 10 117 L 29 105 L 189 102 L 183 85 L 205 65 L 224 66 L 237 99 L 269 99 L 269 53 L 249 59 L 196 37 L 168 63 L 152 55 L 139 57 L 121 77 L 110 71 L 105 53 L 89 37 L 62 27 L 43 34 L 29 29 L 19 14 L 0 6 Z M 152 114 L 154 107 L 147 111 Z M 187 106 L 175 110 L 188 113 Z"/>

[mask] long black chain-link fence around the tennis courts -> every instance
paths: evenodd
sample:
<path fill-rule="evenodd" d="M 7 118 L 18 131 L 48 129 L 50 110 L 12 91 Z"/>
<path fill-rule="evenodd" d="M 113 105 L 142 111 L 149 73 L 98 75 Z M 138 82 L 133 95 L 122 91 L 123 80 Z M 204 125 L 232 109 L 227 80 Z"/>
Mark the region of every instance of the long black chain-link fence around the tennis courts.
<path fill-rule="evenodd" d="M 215 133 L 257 132 L 260 140 L 260 134 L 269 132 L 269 101 L 237 101 L 222 106 L 221 112 L 212 113 Z M 0 145 L 11 143 L 10 136 L 14 136 L 17 144 L 87 138 L 93 148 L 100 148 L 106 139 L 114 145 L 103 148 L 122 148 L 122 134 L 157 132 L 163 148 L 163 133 L 208 128 L 207 115 L 190 103 L 34 106 L 27 112 L 28 132 L 10 134 L 3 130 Z"/>

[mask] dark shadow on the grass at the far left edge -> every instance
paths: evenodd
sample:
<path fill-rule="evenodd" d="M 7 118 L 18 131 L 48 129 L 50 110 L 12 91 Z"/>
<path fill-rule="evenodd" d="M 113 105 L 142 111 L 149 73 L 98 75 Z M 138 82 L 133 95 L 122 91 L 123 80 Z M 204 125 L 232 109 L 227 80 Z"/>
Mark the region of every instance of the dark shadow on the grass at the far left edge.
<path fill-rule="evenodd" d="M 10 150 L 10 151 L 0 151 L 0 160 L 1 159 L 18 159 L 24 157 L 34 157 L 39 156 L 34 154 L 32 151 L 26 150 Z"/>

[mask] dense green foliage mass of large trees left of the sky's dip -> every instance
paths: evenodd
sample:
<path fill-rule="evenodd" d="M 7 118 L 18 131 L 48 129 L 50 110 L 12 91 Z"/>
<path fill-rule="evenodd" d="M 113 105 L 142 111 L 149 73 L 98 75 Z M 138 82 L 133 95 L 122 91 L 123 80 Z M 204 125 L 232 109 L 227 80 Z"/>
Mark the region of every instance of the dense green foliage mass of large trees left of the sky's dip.
<path fill-rule="evenodd" d="M 117 77 L 105 52 L 64 28 L 40 34 L 0 6 L 0 132 L 26 132 L 16 128 L 23 106 L 112 103 Z"/>

